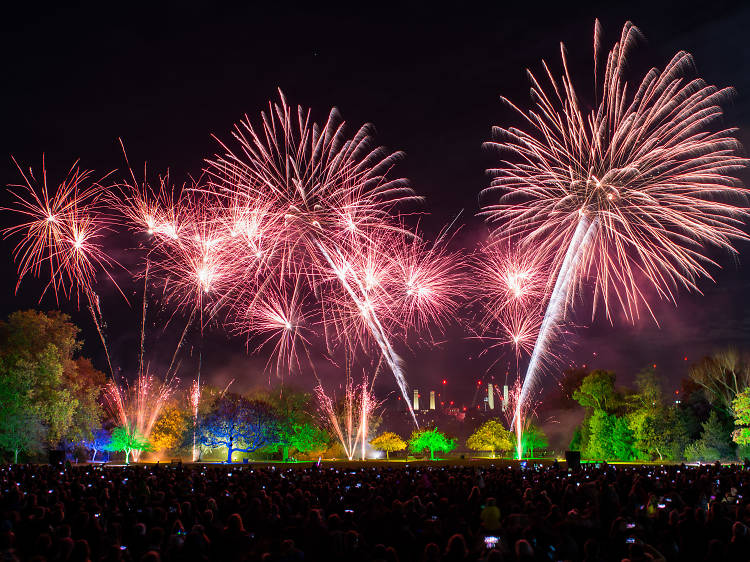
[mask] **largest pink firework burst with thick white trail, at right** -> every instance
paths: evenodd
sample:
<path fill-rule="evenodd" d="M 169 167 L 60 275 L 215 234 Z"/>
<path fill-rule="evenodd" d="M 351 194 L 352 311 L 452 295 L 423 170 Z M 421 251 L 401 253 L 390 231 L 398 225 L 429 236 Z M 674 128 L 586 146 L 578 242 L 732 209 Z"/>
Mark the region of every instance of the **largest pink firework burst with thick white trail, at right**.
<path fill-rule="evenodd" d="M 734 129 L 721 129 L 729 89 L 691 78 L 693 61 L 677 53 L 633 91 L 625 70 L 639 37 L 631 23 L 609 51 L 600 78 L 599 22 L 594 30 L 595 106 L 578 98 L 561 47 L 563 75 L 545 91 L 529 72 L 533 109 L 508 102 L 528 130 L 495 128 L 489 145 L 517 157 L 503 160 L 489 193 L 499 202 L 482 213 L 494 233 L 523 250 L 550 257 L 552 293 L 526 371 L 515 416 L 537 382 L 543 356 L 584 284 L 593 285 L 592 315 L 615 307 L 631 322 L 653 313 L 646 288 L 672 302 L 679 288 L 698 291 L 710 278 L 710 247 L 734 252 L 747 191 L 736 178 L 746 166 Z M 507 101 L 507 100 L 506 100 Z M 552 281 L 554 279 L 554 281 Z M 519 442 L 519 451 L 520 451 Z"/>

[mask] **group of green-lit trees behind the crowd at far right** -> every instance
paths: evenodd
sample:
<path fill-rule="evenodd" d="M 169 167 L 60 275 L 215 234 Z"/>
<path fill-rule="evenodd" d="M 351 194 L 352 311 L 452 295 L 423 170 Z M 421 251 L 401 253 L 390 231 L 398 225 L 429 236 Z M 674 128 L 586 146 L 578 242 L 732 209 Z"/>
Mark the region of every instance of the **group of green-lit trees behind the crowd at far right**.
<path fill-rule="evenodd" d="M 617 385 L 612 371 L 564 373 L 568 407 L 585 409 L 570 448 L 620 461 L 731 461 L 750 457 L 750 357 L 726 349 L 692 365 L 674 394 L 654 369 Z"/>

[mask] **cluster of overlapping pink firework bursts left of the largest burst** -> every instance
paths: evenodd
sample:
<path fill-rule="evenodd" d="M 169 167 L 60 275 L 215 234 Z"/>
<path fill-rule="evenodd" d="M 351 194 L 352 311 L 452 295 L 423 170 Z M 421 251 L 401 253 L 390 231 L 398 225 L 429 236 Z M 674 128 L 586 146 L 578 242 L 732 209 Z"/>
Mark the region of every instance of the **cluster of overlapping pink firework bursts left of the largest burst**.
<path fill-rule="evenodd" d="M 305 358 L 313 366 L 313 345 L 332 360 L 374 351 L 411 409 L 397 349 L 442 331 L 460 299 L 462 258 L 442 234 L 429 244 L 405 226 L 401 208 L 420 198 L 390 178 L 401 153 L 376 146 L 370 126 L 349 135 L 336 110 L 319 125 L 283 95 L 233 136 L 234 148 L 220 143 L 205 174 L 182 187 L 168 174 L 152 186 L 132 169 L 130 180 L 103 186 L 74 167 L 56 190 L 46 171 L 38 186 L 24 175 L 15 210 L 25 222 L 6 231 L 23 235 L 19 282 L 49 269 L 56 295 L 84 292 L 107 351 L 93 285 L 113 263 L 103 235 L 127 229 L 145 250 L 145 273 L 134 277 L 155 280 L 169 322 L 187 316 L 166 379 L 198 321 L 201 335 L 212 323 L 245 336 L 248 349 L 270 350 L 267 368 L 279 376 Z"/>

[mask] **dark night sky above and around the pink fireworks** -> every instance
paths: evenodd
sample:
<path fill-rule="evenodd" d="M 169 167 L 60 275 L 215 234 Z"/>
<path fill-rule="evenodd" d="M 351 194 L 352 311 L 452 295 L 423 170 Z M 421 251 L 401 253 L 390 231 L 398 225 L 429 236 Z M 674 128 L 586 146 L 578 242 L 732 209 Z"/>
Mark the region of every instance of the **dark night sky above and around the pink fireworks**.
<path fill-rule="evenodd" d="M 493 124 L 513 119 L 499 96 L 527 106 L 525 69 L 539 70 L 545 58 L 559 70 L 560 41 L 580 91 L 586 92 L 592 82 L 595 17 L 602 21 L 607 47 L 628 19 L 644 33 L 646 41 L 631 59 L 632 82 L 683 49 L 694 55 L 698 74 L 709 83 L 734 86 L 737 96 L 726 108 L 727 123 L 738 126 L 743 144 L 750 146 L 746 2 L 680 2 L 679 7 L 653 1 L 559 2 L 548 8 L 535 2 L 514 2 L 510 8 L 510 2 L 500 1 L 474 7 L 375 2 L 341 10 L 281 2 L 220 8 L 208 2 L 21 4 L 4 7 L 0 21 L 4 184 L 20 181 L 11 155 L 36 169 L 44 153 L 50 178 L 61 178 L 78 158 L 100 174 L 118 170 L 123 176 L 118 138 L 134 168 L 142 170 L 148 162 L 151 179 L 169 169 L 181 182 L 198 176 L 203 159 L 217 150 L 211 134 L 226 138 L 245 113 L 256 119 L 280 87 L 291 103 L 311 107 L 318 120 L 336 106 L 352 127 L 373 123 L 379 143 L 406 152 L 397 173 L 427 198 L 421 227 L 433 234 L 462 212 L 465 226 L 456 241 L 471 247 L 485 235 L 475 217 L 478 193 L 489 181 L 484 170 L 496 162 L 482 143 Z M 3 204 L 7 201 L 4 194 Z M 7 214 L 0 221 L 7 225 Z M 124 263 L 133 259 L 127 247 L 116 256 Z M 39 294 L 32 282 L 14 296 L 11 250 L 10 242 L 2 243 L 3 315 L 35 306 Z M 750 245 L 739 250 L 736 259 L 715 256 L 723 269 L 716 270 L 716 285 L 701 284 L 704 295 L 680 294 L 679 309 L 657 304 L 660 328 L 646 317 L 635 326 L 619 318 L 610 326 L 602 317 L 592 324 L 590 303 L 583 302 L 566 362 L 613 369 L 623 382 L 655 363 L 672 390 L 690 362 L 711 350 L 729 344 L 750 349 Z M 113 362 L 127 372 L 135 365 L 140 303 L 137 285 L 125 285 L 131 308 L 106 282 L 98 289 Z M 184 325 L 177 318 L 163 331 L 166 313 L 158 304 L 153 303 L 149 322 L 154 363 L 168 361 L 170 332 Z M 56 305 L 47 297 L 41 306 Z M 70 303 L 61 307 L 84 327 L 85 352 L 103 369 L 101 346 L 85 311 Z M 452 328 L 439 349 L 405 352 L 410 383 L 427 390 L 448 378 L 456 399 L 470 402 L 477 377 L 494 357 L 477 357 L 481 347 L 467 335 Z M 197 334 L 189 339 L 186 354 L 199 345 Z M 211 380 L 234 377 L 245 387 L 267 382 L 264 358 L 248 359 L 242 341 L 210 328 L 202 346 L 204 373 Z M 192 376 L 195 358 L 185 356 L 185 378 Z M 507 363 L 501 360 L 492 371 L 500 381 Z M 331 368 L 324 372 L 341 376 Z M 306 384 L 305 377 L 301 382 Z M 394 388 L 390 376 L 381 378 L 381 392 Z"/>

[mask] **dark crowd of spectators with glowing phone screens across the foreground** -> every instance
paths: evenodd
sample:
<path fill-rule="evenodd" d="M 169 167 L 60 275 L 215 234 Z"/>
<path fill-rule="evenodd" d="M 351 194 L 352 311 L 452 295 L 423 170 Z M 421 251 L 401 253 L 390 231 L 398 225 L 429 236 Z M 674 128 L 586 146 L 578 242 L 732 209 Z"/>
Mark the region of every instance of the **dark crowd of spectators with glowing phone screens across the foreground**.
<path fill-rule="evenodd" d="M 6 467 L 0 560 L 748 560 L 734 467 Z"/>

